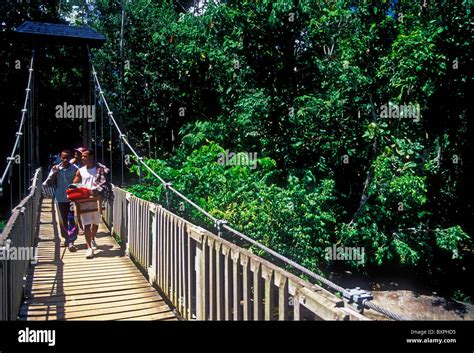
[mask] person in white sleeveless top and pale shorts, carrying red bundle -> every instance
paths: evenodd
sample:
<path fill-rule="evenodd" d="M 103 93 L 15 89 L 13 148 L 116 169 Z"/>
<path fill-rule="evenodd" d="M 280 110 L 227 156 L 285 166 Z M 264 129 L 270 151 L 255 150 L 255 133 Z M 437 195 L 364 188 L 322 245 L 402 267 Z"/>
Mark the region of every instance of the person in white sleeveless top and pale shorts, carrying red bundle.
<path fill-rule="evenodd" d="M 109 198 L 111 193 L 110 182 L 107 178 L 109 169 L 95 161 L 94 151 L 91 149 L 85 149 L 82 152 L 82 162 L 84 166 L 77 170 L 74 184 L 81 183 L 82 186 L 92 190 L 93 196 Z M 97 250 L 95 237 L 99 229 L 100 213 L 97 210 L 97 203 L 95 201 L 85 202 L 81 205 L 81 209 L 89 210 L 89 212 L 81 214 L 80 218 L 86 236 L 86 258 L 92 259 L 94 257 L 94 250 Z M 95 211 L 90 211 L 94 209 Z"/>

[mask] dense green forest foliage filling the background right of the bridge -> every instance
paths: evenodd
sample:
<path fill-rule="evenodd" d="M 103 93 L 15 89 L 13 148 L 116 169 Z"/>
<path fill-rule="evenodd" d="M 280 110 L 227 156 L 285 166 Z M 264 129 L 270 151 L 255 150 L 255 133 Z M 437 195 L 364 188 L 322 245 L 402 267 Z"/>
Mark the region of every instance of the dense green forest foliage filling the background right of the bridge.
<path fill-rule="evenodd" d="M 472 247 L 469 10 L 282 0 L 193 14 L 130 2 L 123 123 L 154 136 L 162 159 L 147 163 L 178 190 L 305 266 L 326 265 L 338 244 L 364 247 L 365 270 L 442 272 Z M 110 38 L 96 54 L 104 86 L 120 92 L 120 11 L 104 0 L 95 13 Z M 419 115 L 381 116 L 398 105 Z M 258 152 L 258 167 L 217 163 L 224 150 Z M 141 173 L 147 184 L 131 190 L 166 202 Z"/>

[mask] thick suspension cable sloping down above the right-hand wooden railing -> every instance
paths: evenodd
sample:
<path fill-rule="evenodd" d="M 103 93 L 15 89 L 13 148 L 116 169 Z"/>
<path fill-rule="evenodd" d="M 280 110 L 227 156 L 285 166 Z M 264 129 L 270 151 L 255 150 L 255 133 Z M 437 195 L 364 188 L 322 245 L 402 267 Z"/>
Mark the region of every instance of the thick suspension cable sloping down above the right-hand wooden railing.
<path fill-rule="evenodd" d="M 345 299 L 347 299 L 349 301 L 349 303 L 355 303 L 358 305 L 359 309 L 363 309 L 364 307 L 365 308 L 370 308 L 370 309 L 373 309 L 375 311 L 378 311 L 388 317 L 390 317 L 391 319 L 393 320 L 397 320 L 397 321 L 402 321 L 402 320 L 406 320 L 404 317 L 402 317 L 401 315 L 397 314 L 397 313 L 394 313 L 388 309 L 383 309 L 381 307 L 379 307 L 378 305 L 376 304 L 373 304 L 373 303 L 370 303 L 369 300 L 373 299 L 372 298 L 372 295 L 366 291 L 363 291 L 363 290 L 360 290 L 359 288 L 356 288 L 356 289 L 344 289 L 343 287 L 335 284 L 334 282 L 331 282 L 330 280 L 314 273 L 313 271 L 310 271 L 308 270 L 307 268 L 297 264 L 296 262 L 288 259 L 287 257 L 283 256 L 283 255 L 280 255 L 278 254 L 277 252 L 275 252 L 274 250 L 266 247 L 265 245 L 263 244 L 260 244 L 259 242 L 257 242 L 256 240 L 246 236 L 245 234 L 231 228 L 230 226 L 227 225 L 227 221 L 225 220 L 220 220 L 214 216 L 212 216 L 211 214 L 209 214 L 206 210 L 204 210 L 202 207 L 200 207 L 199 205 L 197 205 L 196 203 L 194 203 L 193 201 L 191 201 L 189 198 L 187 198 L 186 196 L 184 196 L 182 193 L 180 193 L 178 190 L 176 190 L 175 188 L 173 188 L 171 186 L 171 183 L 169 182 L 166 182 L 162 177 L 160 177 L 150 166 L 148 166 L 148 164 L 146 164 L 144 161 L 143 161 L 143 158 L 140 157 L 138 155 L 138 153 L 135 151 L 135 149 L 130 145 L 130 143 L 128 142 L 128 139 L 127 137 L 122 133 L 122 130 L 120 129 L 120 127 L 118 126 L 117 122 L 115 121 L 114 117 L 113 117 L 113 112 L 110 110 L 109 108 L 109 105 L 107 103 L 107 100 L 105 99 L 105 96 L 104 96 L 104 92 L 102 90 L 102 87 L 100 85 L 100 82 L 99 82 L 99 79 L 97 77 L 97 72 L 95 71 L 95 68 L 94 68 L 94 65 L 92 64 L 92 59 L 91 59 L 91 55 L 90 55 L 90 52 L 89 52 L 89 60 L 90 60 L 90 64 L 91 64 L 91 67 L 92 67 L 92 75 L 94 76 L 94 79 L 95 79 L 95 82 L 96 82 L 96 85 L 97 85 L 97 89 L 99 90 L 99 94 L 104 102 L 104 105 L 107 109 L 107 114 L 110 118 L 110 120 L 112 121 L 113 125 L 115 126 L 115 128 L 117 129 L 117 132 L 119 133 L 119 138 L 121 141 L 123 141 L 123 143 L 125 145 L 127 145 L 127 147 L 130 149 L 130 151 L 133 153 L 133 155 L 135 156 L 135 158 L 137 159 L 137 161 L 139 162 L 139 164 L 143 165 L 155 178 L 157 178 L 161 184 L 164 186 L 165 190 L 166 191 L 172 191 L 174 194 L 176 194 L 178 197 L 180 197 L 182 200 L 186 201 L 188 204 L 190 204 L 191 206 L 193 206 L 196 210 L 198 210 L 199 212 L 201 212 L 202 214 L 204 214 L 206 217 L 208 217 L 209 219 L 211 219 L 216 227 L 218 228 L 219 232 L 222 230 L 222 229 L 226 229 L 227 231 L 229 231 L 230 233 L 234 234 L 234 235 L 237 235 L 238 237 L 248 241 L 249 243 L 251 243 L 252 245 L 260 248 L 261 250 L 271 254 L 272 256 L 278 258 L 279 260 L 281 260 L 282 262 L 296 268 L 297 270 L 305 273 L 306 275 L 308 275 L 309 277 L 312 277 L 313 279 L 323 283 L 324 285 L 326 285 L 327 287 L 337 291 L 337 292 L 340 292 L 342 293 L 343 297 Z"/>

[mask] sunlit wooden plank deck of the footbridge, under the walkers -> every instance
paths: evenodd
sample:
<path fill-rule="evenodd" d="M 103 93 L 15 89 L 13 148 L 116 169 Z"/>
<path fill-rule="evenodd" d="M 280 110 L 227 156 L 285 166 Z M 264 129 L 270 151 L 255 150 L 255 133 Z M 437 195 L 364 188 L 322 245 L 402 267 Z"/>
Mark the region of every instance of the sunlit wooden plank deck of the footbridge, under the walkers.
<path fill-rule="evenodd" d="M 101 224 L 93 259 L 63 247 L 51 199 L 41 204 L 38 263 L 30 269 L 21 320 L 177 320 Z"/>

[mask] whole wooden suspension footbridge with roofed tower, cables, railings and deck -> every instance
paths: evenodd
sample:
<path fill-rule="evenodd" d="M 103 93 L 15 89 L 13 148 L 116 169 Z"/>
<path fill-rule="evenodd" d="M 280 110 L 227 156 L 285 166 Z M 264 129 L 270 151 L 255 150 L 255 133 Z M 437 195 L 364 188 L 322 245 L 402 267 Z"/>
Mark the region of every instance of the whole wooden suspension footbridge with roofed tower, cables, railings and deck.
<path fill-rule="evenodd" d="M 34 152 L 38 129 L 33 127 L 38 122 L 31 104 L 33 51 L 20 127 L 0 180 L 0 191 L 8 182 L 12 195 L 12 170 L 23 141 L 29 151 L 18 172 L 23 196 L 16 207 L 11 198 L 12 213 L 0 235 L 0 250 L 5 254 L 14 248 L 31 248 L 37 250 L 37 257 L 0 258 L 0 320 L 368 320 L 363 308 L 400 319 L 371 303 L 370 293 L 339 287 L 232 229 L 151 170 L 120 130 L 92 65 L 89 48 L 105 41 L 100 34 L 90 28 L 32 22 L 25 22 L 17 34 L 31 45 L 83 47 L 89 59 L 83 66 L 84 86 L 90 90 L 88 83 L 95 83 L 111 129 L 119 134 L 122 157 L 126 145 L 167 191 L 214 221 L 217 234 L 114 185 L 113 202 L 105 203 L 102 214 L 96 256 L 84 259 L 81 237 L 76 242 L 78 252 L 68 252 L 59 236 L 56 203 L 42 193 L 44 175 Z M 85 119 L 82 124 L 84 145 L 90 145 L 91 127 Z M 255 255 L 229 237 L 224 239 L 224 230 L 313 281 Z"/>

